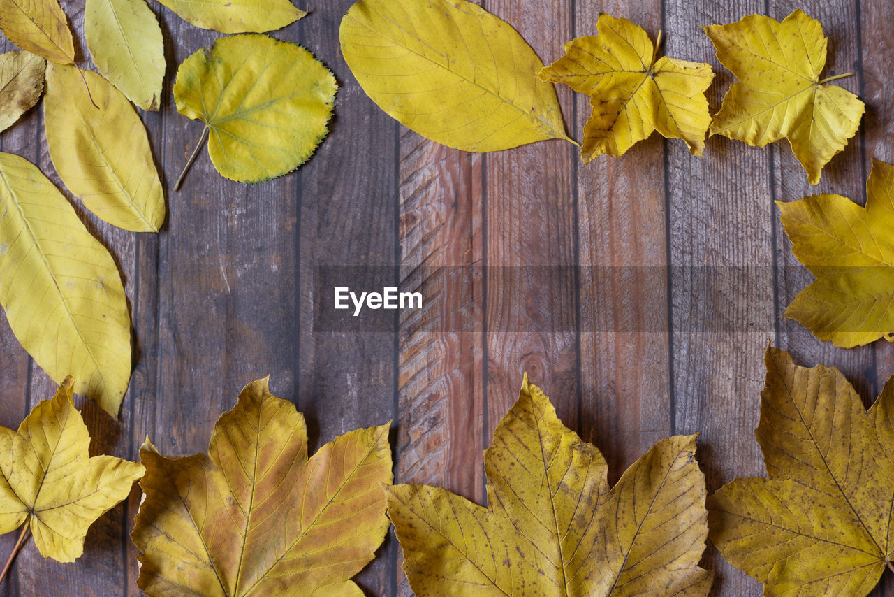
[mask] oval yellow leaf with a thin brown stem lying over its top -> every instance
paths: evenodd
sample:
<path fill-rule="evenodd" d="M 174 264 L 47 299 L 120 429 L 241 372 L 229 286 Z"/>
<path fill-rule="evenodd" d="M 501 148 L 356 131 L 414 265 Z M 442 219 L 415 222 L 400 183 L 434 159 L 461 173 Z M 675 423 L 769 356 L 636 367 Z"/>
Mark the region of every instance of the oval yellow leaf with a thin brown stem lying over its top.
<path fill-rule="evenodd" d="M 89 94 L 74 66 L 46 69 L 44 128 L 53 166 L 69 191 L 106 222 L 157 232 L 164 193 L 146 128 L 121 91 L 96 72 L 82 74 Z"/>

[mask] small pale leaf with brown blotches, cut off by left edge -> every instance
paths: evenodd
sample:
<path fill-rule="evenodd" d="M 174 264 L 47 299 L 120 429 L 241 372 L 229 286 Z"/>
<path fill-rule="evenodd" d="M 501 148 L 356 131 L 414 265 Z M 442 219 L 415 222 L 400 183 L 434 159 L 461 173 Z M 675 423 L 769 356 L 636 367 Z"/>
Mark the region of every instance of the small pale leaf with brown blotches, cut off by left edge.
<path fill-rule="evenodd" d="M 0 131 L 38 103 L 44 90 L 46 62 L 27 50 L 0 54 Z"/>

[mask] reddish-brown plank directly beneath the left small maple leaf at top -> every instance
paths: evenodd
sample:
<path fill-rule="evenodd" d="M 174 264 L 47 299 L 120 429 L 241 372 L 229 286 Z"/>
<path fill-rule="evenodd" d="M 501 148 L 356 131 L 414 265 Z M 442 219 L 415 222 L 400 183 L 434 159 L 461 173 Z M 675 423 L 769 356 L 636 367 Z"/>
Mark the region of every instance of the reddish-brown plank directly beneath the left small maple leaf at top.
<path fill-rule="evenodd" d="M 637 23 L 653 39 L 661 29 L 658 0 L 578 2 L 575 36 L 595 35 L 603 12 Z M 591 110 L 586 96 L 577 100 L 580 134 Z M 611 482 L 671 434 L 661 139 L 655 133 L 622 158 L 578 168 L 579 424 L 603 451 Z"/>

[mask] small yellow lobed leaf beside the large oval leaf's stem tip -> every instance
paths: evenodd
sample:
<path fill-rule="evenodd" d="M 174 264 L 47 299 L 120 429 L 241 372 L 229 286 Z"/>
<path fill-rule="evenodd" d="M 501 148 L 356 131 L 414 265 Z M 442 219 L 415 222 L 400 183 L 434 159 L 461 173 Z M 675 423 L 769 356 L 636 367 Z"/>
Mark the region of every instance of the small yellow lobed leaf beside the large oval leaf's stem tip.
<path fill-rule="evenodd" d="M 623 155 L 653 131 L 682 139 L 693 155 L 702 155 L 711 124 L 704 97 L 714 76 L 711 65 L 658 58 L 645 30 L 627 19 L 601 14 L 596 30 L 598 36 L 565 44 L 565 55 L 540 71 L 544 81 L 590 96 L 584 162 Z"/>

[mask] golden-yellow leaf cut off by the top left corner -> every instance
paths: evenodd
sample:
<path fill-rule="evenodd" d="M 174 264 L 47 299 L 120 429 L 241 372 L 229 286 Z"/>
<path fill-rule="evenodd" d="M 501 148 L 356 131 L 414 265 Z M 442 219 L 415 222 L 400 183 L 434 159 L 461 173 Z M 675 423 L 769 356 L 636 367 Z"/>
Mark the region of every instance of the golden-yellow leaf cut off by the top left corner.
<path fill-rule="evenodd" d="M 0 30 L 33 54 L 74 64 L 72 30 L 56 0 L 0 0 Z"/>

